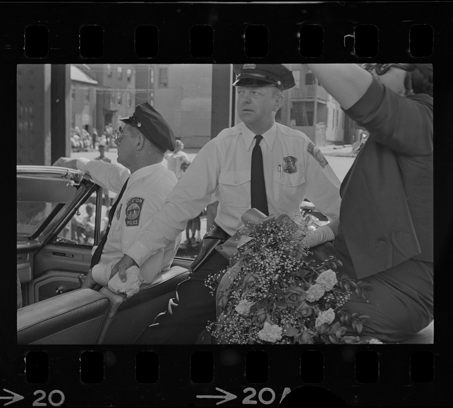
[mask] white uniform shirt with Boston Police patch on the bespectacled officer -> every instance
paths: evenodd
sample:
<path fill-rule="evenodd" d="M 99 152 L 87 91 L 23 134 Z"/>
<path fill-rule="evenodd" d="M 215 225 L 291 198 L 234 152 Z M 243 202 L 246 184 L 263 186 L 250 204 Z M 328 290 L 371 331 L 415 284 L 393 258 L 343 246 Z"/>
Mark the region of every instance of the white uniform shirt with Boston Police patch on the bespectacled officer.
<path fill-rule="evenodd" d="M 106 285 L 113 266 L 135 241 L 143 225 L 162 209 L 177 180 L 175 174 L 161 163 L 143 167 L 131 174 L 128 169 L 115 164 L 79 158 L 77 168 L 88 172 L 101 187 L 116 193 L 121 191 L 130 177 L 113 216 L 99 263 L 92 270 L 94 280 L 100 285 Z M 179 234 L 140 265 L 144 283 L 153 282 L 158 273 L 171 266 L 180 241 Z M 93 247 L 93 253 L 95 248 Z"/>

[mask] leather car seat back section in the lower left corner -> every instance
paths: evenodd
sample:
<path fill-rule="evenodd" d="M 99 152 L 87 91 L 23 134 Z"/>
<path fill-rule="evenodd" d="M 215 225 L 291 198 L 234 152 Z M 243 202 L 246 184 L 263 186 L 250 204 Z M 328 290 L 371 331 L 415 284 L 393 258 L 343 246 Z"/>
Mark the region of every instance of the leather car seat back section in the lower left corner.
<path fill-rule="evenodd" d="M 94 344 L 110 300 L 92 289 L 71 292 L 17 310 L 18 344 Z"/>

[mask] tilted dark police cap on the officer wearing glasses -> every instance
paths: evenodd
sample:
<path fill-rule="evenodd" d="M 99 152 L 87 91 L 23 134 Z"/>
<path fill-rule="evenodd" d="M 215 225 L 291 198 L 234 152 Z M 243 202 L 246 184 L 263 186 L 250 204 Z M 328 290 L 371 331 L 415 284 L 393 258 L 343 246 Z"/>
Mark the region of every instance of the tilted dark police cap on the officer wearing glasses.
<path fill-rule="evenodd" d="M 138 105 L 134 113 L 120 120 L 136 127 L 143 136 L 157 146 L 171 151 L 176 148 L 175 135 L 171 127 L 148 102 Z"/>

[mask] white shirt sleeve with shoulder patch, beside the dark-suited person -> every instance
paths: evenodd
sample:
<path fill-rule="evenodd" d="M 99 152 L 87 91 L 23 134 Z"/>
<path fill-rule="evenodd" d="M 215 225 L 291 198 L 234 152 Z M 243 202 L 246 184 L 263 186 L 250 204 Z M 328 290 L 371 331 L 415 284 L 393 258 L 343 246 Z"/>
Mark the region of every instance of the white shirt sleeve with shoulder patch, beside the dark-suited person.
<path fill-rule="evenodd" d="M 333 225 L 336 225 L 340 214 L 341 183 L 321 150 L 313 142 L 307 143 L 304 156 L 305 196 Z"/>

